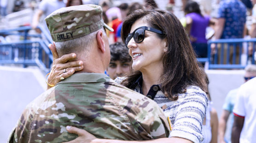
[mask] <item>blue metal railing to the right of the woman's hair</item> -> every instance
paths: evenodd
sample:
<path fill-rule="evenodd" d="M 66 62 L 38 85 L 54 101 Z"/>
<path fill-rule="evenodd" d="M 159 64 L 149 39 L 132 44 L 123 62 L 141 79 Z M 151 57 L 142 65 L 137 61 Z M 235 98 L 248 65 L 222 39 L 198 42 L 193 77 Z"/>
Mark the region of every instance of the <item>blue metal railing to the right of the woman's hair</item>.
<path fill-rule="evenodd" d="M 211 44 L 215 44 L 215 53 L 211 53 Z M 256 38 L 244 39 L 218 39 L 208 41 L 208 62 L 209 69 L 244 69 L 250 60 L 255 64 Z M 252 48 L 252 54 L 249 55 L 249 47 Z M 242 54 L 246 55 L 245 64 L 241 63 Z"/>

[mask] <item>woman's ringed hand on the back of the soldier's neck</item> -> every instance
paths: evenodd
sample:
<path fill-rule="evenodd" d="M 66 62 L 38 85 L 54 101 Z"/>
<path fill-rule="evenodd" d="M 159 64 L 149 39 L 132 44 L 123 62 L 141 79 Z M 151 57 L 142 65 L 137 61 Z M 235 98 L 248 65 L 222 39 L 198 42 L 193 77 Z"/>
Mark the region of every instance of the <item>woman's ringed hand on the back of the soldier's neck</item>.
<path fill-rule="evenodd" d="M 47 79 L 49 84 L 56 85 L 60 82 L 60 77 L 70 77 L 75 71 L 81 71 L 83 69 L 83 62 L 81 60 L 69 61 L 76 58 L 75 53 L 66 54 L 59 58 L 55 44 L 49 44 L 48 47 L 51 49 L 53 56 L 52 69 Z M 47 89 L 49 88 L 51 87 L 47 85 Z"/>

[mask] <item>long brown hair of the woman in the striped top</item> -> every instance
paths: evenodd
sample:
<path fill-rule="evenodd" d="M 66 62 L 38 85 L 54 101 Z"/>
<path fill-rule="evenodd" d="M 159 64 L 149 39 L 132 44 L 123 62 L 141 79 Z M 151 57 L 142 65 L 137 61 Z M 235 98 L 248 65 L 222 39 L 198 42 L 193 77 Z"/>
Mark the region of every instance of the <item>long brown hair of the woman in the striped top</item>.
<path fill-rule="evenodd" d="M 163 75 L 161 75 L 161 90 L 170 100 L 177 100 L 177 93 L 186 92 L 190 85 L 198 86 L 206 91 L 203 71 L 186 35 L 186 31 L 174 14 L 163 10 L 136 10 L 132 12 L 122 25 L 122 40 L 124 42 L 131 27 L 140 18 L 145 17 L 152 28 L 163 31 L 159 38 L 166 40 L 168 50 L 163 56 Z M 153 46 L 153 45 L 152 45 Z M 132 65 L 132 64 L 131 64 Z M 132 70 L 121 84 L 132 88 L 132 84 L 142 75 L 140 71 Z"/>

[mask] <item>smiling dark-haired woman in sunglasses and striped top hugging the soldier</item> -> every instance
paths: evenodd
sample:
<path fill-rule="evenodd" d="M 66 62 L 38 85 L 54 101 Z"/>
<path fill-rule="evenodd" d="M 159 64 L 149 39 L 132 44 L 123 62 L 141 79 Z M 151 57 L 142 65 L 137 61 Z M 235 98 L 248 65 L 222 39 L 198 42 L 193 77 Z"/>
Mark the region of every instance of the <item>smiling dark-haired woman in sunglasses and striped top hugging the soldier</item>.
<path fill-rule="evenodd" d="M 153 99 L 173 124 L 169 138 L 140 142 L 200 143 L 208 102 L 206 84 L 180 21 L 166 11 L 136 10 L 123 22 L 122 40 L 133 60 L 131 73 L 116 81 Z M 61 64 L 56 72 L 66 67 Z M 50 78 L 57 81 L 59 77 L 57 74 Z M 70 143 L 129 142 L 97 139 L 84 130 L 70 126 L 67 129 L 81 135 Z"/>

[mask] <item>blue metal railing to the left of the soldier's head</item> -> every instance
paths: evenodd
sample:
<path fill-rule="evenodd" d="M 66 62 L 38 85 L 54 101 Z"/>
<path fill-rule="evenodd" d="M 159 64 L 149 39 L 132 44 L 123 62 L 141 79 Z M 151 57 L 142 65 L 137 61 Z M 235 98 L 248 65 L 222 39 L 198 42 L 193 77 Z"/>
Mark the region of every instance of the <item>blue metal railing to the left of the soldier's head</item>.
<path fill-rule="evenodd" d="M 39 66 L 45 72 L 50 71 L 53 59 L 48 44 L 52 43 L 52 38 L 44 28 L 38 28 L 42 34 L 29 34 L 30 26 L 0 30 L 0 35 L 17 35 L 22 39 L 0 43 L 0 64 L 22 64 L 23 67 L 32 65 Z"/>

